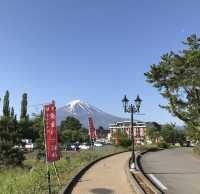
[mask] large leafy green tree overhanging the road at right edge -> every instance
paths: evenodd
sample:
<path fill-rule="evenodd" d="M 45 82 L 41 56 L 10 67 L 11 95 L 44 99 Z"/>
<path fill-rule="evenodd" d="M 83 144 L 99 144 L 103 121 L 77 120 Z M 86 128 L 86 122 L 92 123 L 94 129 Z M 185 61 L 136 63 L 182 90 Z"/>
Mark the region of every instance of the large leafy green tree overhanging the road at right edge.
<path fill-rule="evenodd" d="M 163 55 L 145 76 L 168 101 L 160 107 L 200 131 L 200 39 L 193 34 L 184 44 L 186 50 Z"/>

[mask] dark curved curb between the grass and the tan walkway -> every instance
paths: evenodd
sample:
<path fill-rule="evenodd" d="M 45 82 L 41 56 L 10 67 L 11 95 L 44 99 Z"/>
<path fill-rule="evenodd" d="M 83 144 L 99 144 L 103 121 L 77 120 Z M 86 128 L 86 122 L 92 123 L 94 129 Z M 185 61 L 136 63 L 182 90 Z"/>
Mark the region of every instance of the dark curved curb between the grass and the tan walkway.
<path fill-rule="evenodd" d="M 112 154 L 108 154 L 106 156 L 97 158 L 96 160 L 90 162 L 89 164 L 87 164 L 85 167 L 83 167 L 81 170 L 78 171 L 78 173 L 76 173 L 76 175 L 74 177 L 72 177 L 71 180 L 69 180 L 69 182 L 67 183 L 67 185 L 64 187 L 64 189 L 62 189 L 59 194 L 71 194 L 73 188 L 76 186 L 77 182 L 79 181 L 79 179 L 85 174 L 85 172 L 92 167 L 95 163 L 99 162 L 100 160 L 103 160 L 105 158 L 108 158 L 110 156 L 114 156 L 117 154 L 121 154 L 121 153 L 125 153 L 125 152 L 129 152 L 129 151 L 121 151 L 121 152 L 117 152 L 117 153 L 112 153 Z"/>

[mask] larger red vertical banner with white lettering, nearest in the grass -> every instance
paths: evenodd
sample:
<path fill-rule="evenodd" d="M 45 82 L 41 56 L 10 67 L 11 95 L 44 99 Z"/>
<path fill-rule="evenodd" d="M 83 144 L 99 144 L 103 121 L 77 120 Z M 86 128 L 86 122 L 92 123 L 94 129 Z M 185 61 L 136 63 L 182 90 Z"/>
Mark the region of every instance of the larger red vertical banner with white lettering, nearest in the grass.
<path fill-rule="evenodd" d="M 60 148 L 56 128 L 56 107 L 54 103 L 44 106 L 44 125 L 47 161 L 54 162 L 60 159 Z"/>

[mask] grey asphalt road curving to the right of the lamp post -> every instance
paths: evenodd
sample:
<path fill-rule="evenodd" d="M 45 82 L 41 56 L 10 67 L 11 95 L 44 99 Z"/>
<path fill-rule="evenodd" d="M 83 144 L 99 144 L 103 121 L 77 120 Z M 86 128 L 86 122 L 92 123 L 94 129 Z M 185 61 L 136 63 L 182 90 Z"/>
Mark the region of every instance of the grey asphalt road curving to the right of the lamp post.
<path fill-rule="evenodd" d="M 149 152 L 142 156 L 144 172 L 158 179 L 167 194 L 200 194 L 200 158 L 191 148 Z"/>

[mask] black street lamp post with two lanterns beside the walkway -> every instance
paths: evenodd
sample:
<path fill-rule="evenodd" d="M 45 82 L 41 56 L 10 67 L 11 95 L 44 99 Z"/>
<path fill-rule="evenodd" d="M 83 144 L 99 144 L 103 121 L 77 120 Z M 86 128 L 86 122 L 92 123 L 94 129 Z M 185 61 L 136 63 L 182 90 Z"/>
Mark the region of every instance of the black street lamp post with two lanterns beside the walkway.
<path fill-rule="evenodd" d="M 135 105 L 130 104 L 129 105 L 129 100 L 124 96 L 123 100 L 123 107 L 124 107 L 124 112 L 131 113 L 131 139 L 132 139 L 132 155 L 131 155 L 131 161 L 134 163 L 134 168 L 135 168 L 135 141 L 134 141 L 134 131 L 133 131 L 133 114 L 136 112 L 140 112 L 140 105 L 142 103 L 142 100 L 140 99 L 139 95 L 135 99 Z"/>

